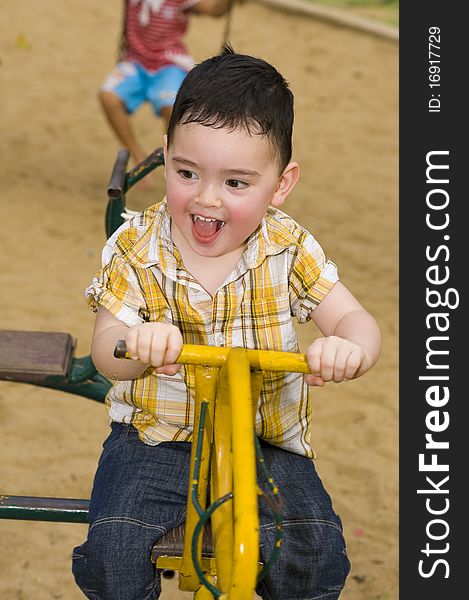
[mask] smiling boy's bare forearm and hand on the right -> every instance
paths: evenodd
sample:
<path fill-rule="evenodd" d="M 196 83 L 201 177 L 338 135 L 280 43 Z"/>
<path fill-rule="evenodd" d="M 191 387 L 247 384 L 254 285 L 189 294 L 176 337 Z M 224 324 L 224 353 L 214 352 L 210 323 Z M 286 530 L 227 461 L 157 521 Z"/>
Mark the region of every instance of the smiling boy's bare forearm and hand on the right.
<path fill-rule="evenodd" d="M 347 381 L 360 377 L 378 360 L 381 333 L 374 318 L 338 281 L 311 313 L 325 337 L 306 351 L 311 371 L 309 385 Z"/>

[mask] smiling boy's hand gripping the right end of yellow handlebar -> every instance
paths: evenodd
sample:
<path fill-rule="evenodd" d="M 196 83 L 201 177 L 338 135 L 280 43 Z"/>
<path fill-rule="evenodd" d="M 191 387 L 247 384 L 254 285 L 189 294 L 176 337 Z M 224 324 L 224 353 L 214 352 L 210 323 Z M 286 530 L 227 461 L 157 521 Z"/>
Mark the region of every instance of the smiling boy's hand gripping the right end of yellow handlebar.
<path fill-rule="evenodd" d="M 353 379 L 365 360 L 363 349 L 344 338 L 331 335 L 318 338 L 306 351 L 314 375 L 306 375 L 308 385 L 323 386 L 327 381 Z"/>

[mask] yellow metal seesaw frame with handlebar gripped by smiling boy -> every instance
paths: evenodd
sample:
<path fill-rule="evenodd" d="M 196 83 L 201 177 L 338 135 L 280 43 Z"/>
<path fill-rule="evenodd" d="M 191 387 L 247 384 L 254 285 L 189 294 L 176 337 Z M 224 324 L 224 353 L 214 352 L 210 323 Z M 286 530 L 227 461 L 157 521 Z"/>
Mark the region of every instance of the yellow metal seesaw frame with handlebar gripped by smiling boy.
<path fill-rule="evenodd" d="M 115 356 L 129 358 L 123 340 Z M 152 559 L 157 568 L 178 571 L 179 589 L 193 591 L 197 600 L 247 600 L 262 568 L 256 483 L 260 447 L 254 432 L 262 372 L 309 373 L 308 363 L 304 355 L 290 352 L 196 345 L 183 346 L 177 362 L 195 366 L 187 518 L 185 528 L 168 532 L 155 544 Z M 261 456 L 260 461 L 262 467 Z M 208 481 L 215 500 L 206 508 Z M 269 482 L 278 529 L 274 554 L 281 543 L 281 515 L 278 490 L 271 478 Z M 209 519 L 211 527 L 205 528 Z M 202 545 L 204 528 L 213 550 Z"/>

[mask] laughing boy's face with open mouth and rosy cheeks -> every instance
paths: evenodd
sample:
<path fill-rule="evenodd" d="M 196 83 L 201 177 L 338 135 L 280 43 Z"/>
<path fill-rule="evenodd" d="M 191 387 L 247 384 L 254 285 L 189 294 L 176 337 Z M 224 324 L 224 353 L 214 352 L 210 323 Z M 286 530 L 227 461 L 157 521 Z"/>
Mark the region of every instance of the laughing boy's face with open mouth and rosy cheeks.
<path fill-rule="evenodd" d="M 269 204 L 283 203 L 296 183 L 297 170 L 290 163 L 279 174 L 266 137 L 199 123 L 178 125 L 169 148 L 165 140 L 173 240 L 176 245 L 184 241 L 192 252 L 205 257 L 244 248 Z M 296 176 L 285 178 L 287 171 Z"/>

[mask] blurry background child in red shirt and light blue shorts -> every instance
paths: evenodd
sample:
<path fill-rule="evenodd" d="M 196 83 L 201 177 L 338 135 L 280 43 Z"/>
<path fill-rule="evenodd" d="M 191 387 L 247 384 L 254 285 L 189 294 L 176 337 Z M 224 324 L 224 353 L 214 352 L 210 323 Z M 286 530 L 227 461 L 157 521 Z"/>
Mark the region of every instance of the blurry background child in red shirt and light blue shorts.
<path fill-rule="evenodd" d="M 125 0 L 119 63 L 103 83 L 104 114 L 135 163 L 146 154 L 129 115 L 149 102 L 167 128 L 176 93 L 194 66 L 183 38 L 192 13 L 222 16 L 231 0 Z"/>

